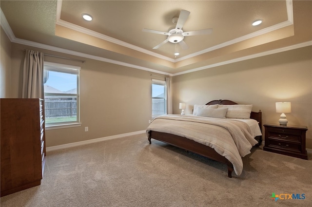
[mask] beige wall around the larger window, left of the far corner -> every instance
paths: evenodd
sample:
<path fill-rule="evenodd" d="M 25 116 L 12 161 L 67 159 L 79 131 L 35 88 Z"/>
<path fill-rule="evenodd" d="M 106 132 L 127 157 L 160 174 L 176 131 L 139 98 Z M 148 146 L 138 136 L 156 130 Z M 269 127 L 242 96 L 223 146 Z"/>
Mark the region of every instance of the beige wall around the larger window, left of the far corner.
<path fill-rule="evenodd" d="M 12 94 L 20 97 L 24 49 L 39 48 L 12 43 Z M 56 54 L 64 56 L 64 54 Z M 81 127 L 46 130 L 46 146 L 144 131 L 152 113 L 151 73 L 86 59 L 85 63 L 45 56 L 45 61 L 77 65 L 80 70 Z M 79 57 L 76 57 L 79 58 Z M 79 58 L 84 59 L 84 58 Z M 159 74 L 158 74 L 159 75 Z M 84 132 L 89 127 L 89 132 Z"/>

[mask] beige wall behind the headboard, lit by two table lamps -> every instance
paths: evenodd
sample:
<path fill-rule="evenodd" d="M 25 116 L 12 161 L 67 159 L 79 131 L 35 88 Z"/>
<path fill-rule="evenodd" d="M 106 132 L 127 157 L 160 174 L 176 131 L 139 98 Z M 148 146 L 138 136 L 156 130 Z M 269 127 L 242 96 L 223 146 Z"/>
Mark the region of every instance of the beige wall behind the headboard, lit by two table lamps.
<path fill-rule="evenodd" d="M 307 148 L 312 149 L 312 47 L 258 57 L 173 77 L 174 113 L 178 103 L 194 104 L 230 99 L 254 104 L 262 111 L 263 124 L 278 123 L 275 102 L 291 101 L 289 124 L 308 127 Z"/>

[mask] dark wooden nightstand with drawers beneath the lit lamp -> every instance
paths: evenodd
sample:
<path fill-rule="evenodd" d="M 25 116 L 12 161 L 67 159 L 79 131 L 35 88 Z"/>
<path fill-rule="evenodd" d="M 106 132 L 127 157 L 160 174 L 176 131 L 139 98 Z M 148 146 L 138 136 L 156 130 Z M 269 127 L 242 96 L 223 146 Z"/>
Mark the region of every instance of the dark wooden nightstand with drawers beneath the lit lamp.
<path fill-rule="evenodd" d="M 265 124 L 264 151 L 308 159 L 306 151 L 306 126 L 281 126 Z"/>

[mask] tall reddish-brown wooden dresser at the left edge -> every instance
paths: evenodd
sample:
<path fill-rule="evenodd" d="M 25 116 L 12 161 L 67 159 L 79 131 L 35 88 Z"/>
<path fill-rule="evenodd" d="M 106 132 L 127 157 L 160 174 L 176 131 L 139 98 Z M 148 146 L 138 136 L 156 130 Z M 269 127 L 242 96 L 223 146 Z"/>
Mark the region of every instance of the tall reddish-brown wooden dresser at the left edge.
<path fill-rule="evenodd" d="M 45 162 L 44 101 L 1 98 L 1 196 L 41 183 Z"/>

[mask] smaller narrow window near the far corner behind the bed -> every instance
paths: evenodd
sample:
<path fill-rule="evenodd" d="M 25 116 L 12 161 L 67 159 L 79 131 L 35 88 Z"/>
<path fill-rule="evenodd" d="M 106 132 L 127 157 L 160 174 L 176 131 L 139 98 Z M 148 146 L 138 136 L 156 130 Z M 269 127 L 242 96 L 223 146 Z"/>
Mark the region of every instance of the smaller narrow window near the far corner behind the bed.
<path fill-rule="evenodd" d="M 167 114 L 166 81 L 152 79 L 152 117 Z"/>

